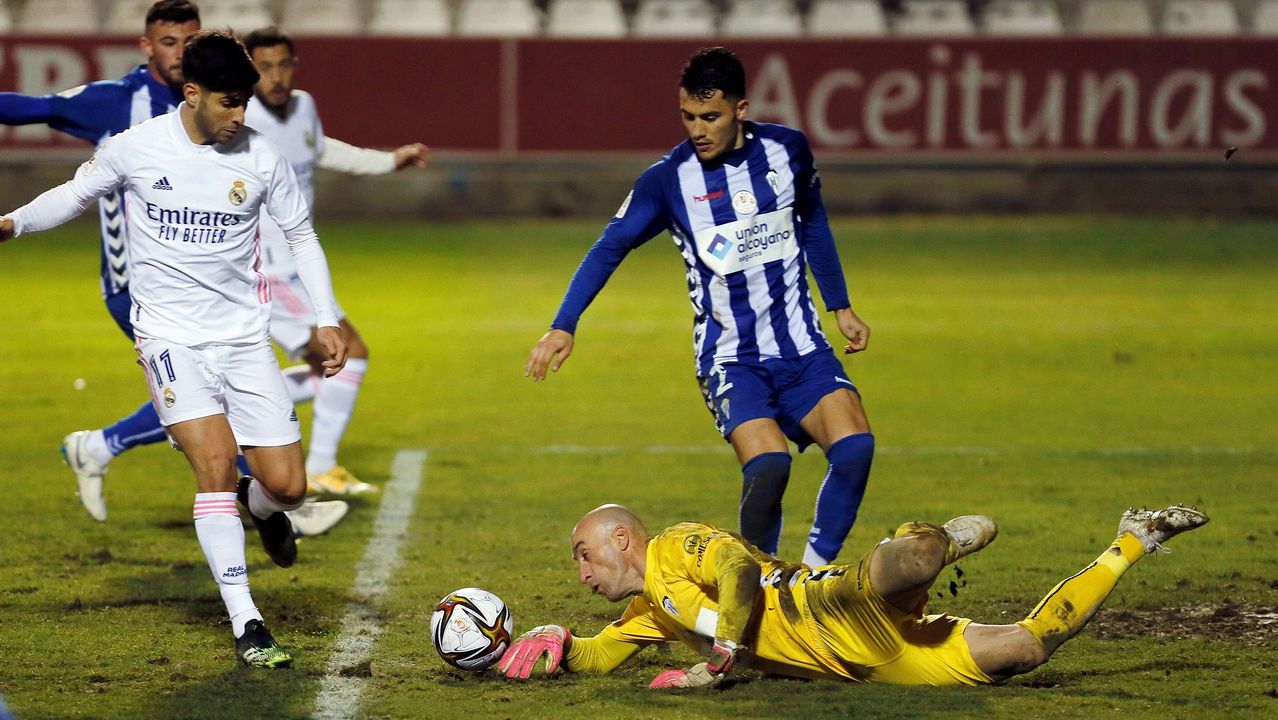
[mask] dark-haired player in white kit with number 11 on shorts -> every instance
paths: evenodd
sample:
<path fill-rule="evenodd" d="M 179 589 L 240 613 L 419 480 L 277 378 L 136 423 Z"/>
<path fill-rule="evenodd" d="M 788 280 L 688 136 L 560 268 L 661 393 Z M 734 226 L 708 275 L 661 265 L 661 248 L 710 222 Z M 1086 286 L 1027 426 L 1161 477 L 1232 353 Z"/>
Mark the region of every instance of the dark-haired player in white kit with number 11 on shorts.
<path fill-rule="evenodd" d="M 60 225 L 106 193 L 125 193 L 137 336 L 152 403 L 196 474 L 196 535 L 245 664 L 293 657 L 249 593 L 243 503 L 271 559 L 296 559 L 285 510 L 305 497 L 296 413 L 267 338 L 270 284 L 258 271 L 258 217 L 284 229 L 314 299 L 327 375 L 345 363 L 332 284 L 288 161 L 244 127 L 258 74 L 238 40 L 201 32 L 183 56 L 183 102 L 105 143 L 75 176 L 0 217 L 0 240 Z M 243 450 L 258 478 L 236 491 Z"/>

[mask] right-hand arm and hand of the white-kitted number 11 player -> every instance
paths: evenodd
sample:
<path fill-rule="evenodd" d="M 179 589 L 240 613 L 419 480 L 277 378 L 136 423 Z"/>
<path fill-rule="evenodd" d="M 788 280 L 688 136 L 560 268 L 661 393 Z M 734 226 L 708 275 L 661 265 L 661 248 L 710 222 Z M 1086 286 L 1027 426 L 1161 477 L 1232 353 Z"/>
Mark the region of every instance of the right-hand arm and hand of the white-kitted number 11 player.
<path fill-rule="evenodd" d="M 328 359 L 322 363 L 325 377 L 332 377 L 346 364 L 346 341 L 337 326 L 332 276 L 328 274 L 328 260 L 320 246 L 320 237 L 311 225 L 311 211 L 302 197 L 298 178 L 282 156 L 276 159 L 263 210 L 280 225 L 289 242 L 298 278 L 316 309 L 316 336 L 328 353 Z"/>

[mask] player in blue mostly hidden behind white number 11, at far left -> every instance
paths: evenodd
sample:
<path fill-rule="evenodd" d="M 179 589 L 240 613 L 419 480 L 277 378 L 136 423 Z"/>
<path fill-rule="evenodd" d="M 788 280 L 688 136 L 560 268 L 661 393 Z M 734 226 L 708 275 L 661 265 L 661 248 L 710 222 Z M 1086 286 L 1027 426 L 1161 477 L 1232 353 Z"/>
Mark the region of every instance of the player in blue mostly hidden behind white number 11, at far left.
<path fill-rule="evenodd" d="M 95 82 L 43 97 L 3 92 L 0 123 L 42 123 L 101 146 L 110 137 L 178 107 L 181 101 L 183 50 L 187 40 L 197 32 L 199 9 L 194 3 L 160 0 L 147 10 L 146 29 L 138 38 L 138 46 L 147 56 L 144 64 L 118 81 Z M 98 201 L 98 217 L 102 228 L 102 298 L 116 325 L 133 340 L 123 189 Z M 164 439 L 164 427 L 151 400 L 107 427 L 66 436 L 63 455 L 75 471 L 81 503 L 93 519 L 106 520 L 102 476 L 111 458 Z"/>

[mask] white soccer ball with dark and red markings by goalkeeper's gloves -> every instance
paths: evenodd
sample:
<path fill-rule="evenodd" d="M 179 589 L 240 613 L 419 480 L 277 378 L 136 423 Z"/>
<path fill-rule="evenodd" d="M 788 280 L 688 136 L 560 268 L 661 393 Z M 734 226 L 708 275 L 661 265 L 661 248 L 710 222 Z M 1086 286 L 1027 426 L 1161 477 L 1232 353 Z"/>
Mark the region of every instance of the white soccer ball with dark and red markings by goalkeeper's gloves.
<path fill-rule="evenodd" d="M 449 665 L 481 671 L 510 647 L 515 622 L 500 597 L 463 587 L 445 595 L 431 615 L 431 642 Z"/>

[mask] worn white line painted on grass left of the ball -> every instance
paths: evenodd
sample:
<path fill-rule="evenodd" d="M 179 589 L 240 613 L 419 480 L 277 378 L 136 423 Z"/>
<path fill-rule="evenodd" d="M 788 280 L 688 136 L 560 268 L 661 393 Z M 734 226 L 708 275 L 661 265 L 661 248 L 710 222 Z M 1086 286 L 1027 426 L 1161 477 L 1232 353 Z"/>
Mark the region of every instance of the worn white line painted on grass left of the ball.
<path fill-rule="evenodd" d="M 391 480 L 382 491 L 373 536 L 355 570 L 351 601 L 341 619 L 341 634 L 325 668 L 312 717 L 340 720 L 354 717 L 368 684 L 360 666 L 368 661 L 373 642 L 382 632 L 378 610 L 386 583 L 400 563 L 400 545 L 413 519 L 413 501 L 422 486 L 426 450 L 400 450 L 391 463 Z"/>

